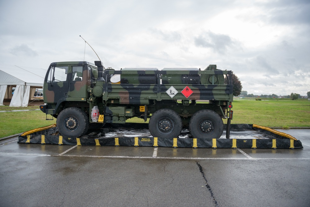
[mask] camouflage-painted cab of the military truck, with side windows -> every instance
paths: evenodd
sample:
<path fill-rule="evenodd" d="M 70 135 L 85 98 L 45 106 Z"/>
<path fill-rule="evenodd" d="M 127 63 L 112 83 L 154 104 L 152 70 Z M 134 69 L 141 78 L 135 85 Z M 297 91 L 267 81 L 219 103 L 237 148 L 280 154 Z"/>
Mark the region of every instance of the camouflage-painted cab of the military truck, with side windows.
<path fill-rule="evenodd" d="M 97 78 L 97 66 L 90 62 L 51 63 L 43 84 L 45 112 L 57 117 L 60 110 L 70 105 L 89 107 L 87 89 Z"/>

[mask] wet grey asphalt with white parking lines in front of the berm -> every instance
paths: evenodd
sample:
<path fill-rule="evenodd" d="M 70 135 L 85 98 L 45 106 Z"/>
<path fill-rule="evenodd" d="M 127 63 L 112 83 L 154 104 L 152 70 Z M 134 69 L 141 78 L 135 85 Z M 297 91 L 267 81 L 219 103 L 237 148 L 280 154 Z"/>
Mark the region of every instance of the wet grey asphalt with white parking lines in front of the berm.
<path fill-rule="evenodd" d="M 0 206 L 310 206 L 304 149 L 18 144 L 0 141 Z"/>

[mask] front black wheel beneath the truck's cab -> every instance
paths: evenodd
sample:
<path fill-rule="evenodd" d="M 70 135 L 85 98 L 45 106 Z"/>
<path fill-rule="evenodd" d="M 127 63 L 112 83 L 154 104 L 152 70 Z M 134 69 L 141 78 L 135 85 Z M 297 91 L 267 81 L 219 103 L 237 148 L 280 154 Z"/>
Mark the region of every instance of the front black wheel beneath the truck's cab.
<path fill-rule="evenodd" d="M 56 124 L 61 135 L 79 137 L 87 132 L 89 118 L 86 112 L 80 108 L 70 107 L 59 113 Z"/>

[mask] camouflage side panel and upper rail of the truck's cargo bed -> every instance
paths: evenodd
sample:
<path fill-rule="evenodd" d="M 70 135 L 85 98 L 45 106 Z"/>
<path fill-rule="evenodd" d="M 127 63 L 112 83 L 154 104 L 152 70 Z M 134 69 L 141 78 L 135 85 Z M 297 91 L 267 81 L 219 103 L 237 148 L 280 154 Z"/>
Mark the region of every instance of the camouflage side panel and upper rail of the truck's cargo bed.
<path fill-rule="evenodd" d="M 223 76 L 223 75 L 231 75 L 231 71 L 131 71 L 137 75 L 140 74 L 153 74 L 154 77 L 170 74 L 175 75 L 176 78 L 181 79 L 182 75 L 187 74 L 196 74 L 196 75 L 209 75 L 209 76 Z M 128 76 L 128 71 L 111 71 L 111 74 L 126 74 Z M 157 78 L 157 77 L 156 77 Z M 152 80 L 154 78 L 151 78 Z M 158 78 L 157 78 L 158 79 Z M 157 81 L 160 82 L 160 79 Z M 173 97 L 169 97 L 166 91 L 168 88 L 173 86 L 178 93 Z M 188 86 L 193 90 L 193 94 L 190 97 L 186 98 L 181 91 Z M 107 96 L 103 98 L 107 101 L 108 99 L 124 99 L 121 100 L 126 104 L 139 104 L 139 100 L 151 100 L 155 99 L 157 101 L 161 100 L 223 100 L 223 101 L 232 101 L 232 85 L 227 84 L 105 84 L 104 88 L 107 88 Z M 126 100 L 128 99 L 128 100 Z M 142 101 L 143 103 L 145 101 Z"/>

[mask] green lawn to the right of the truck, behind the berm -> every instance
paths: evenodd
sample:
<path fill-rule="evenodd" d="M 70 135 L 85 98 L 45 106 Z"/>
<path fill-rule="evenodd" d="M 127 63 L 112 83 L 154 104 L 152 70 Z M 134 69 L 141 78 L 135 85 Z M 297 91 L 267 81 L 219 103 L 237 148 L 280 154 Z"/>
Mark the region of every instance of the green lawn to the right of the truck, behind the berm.
<path fill-rule="evenodd" d="M 267 127 L 310 127 L 307 99 L 234 100 L 232 124 L 258 124 Z"/>

